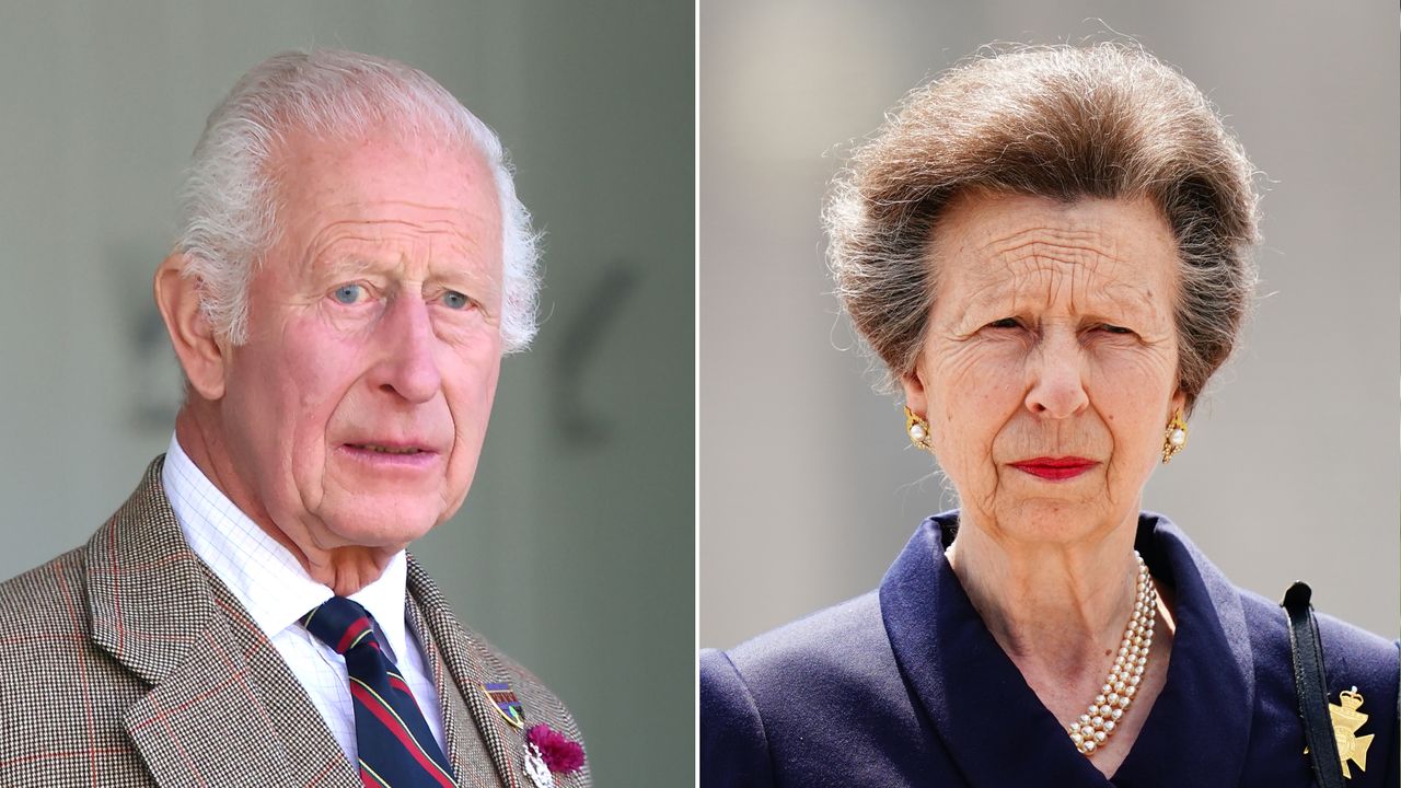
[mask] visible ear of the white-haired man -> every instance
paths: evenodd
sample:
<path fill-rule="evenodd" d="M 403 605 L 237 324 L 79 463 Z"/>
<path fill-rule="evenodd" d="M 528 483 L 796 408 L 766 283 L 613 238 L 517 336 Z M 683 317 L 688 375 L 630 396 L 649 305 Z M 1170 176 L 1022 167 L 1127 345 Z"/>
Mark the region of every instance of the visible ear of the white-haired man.
<path fill-rule="evenodd" d="M 228 344 L 214 335 L 205 318 L 199 307 L 200 282 L 184 276 L 188 262 L 184 252 L 172 252 L 156 269 L 156 306 L 191 387 L 205 400 L 214 401 L 224 395 Z"/>

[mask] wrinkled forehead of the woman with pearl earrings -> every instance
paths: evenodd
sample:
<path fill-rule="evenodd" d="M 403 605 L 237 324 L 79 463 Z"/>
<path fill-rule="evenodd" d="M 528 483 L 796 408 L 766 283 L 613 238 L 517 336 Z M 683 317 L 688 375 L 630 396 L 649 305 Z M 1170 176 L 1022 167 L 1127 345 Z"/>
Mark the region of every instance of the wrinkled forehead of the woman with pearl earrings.
<path fill-rule="evenodd" d="M 1177 244 L 1147 199 L 960 198 L 930 252 L 937 297 L 969 304 L 1107 299 L 1167 308 L 1177 286 Z"/>

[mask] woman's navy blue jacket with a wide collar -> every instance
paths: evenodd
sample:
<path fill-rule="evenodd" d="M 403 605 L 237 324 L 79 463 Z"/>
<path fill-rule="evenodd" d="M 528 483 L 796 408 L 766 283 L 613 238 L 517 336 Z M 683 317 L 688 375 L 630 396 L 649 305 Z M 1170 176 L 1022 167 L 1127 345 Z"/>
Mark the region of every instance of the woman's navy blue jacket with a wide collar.
<path fill-rule="evenodd" d="M 1166 517 L 1138 551 L 1174 592 L 1167 681 L 1101 775 L 993 641 L 944 558 L 957 512 L 925 520 L 880 589 L 727 652 L 700 653 L 700 784 L 720 787 L 1313 785 L 1288 620 L 1233 586 Z M 1283 590 L 1283 589 L 1281 589 Z M 1330 700 L 1370 715 L 1366 771 L 1398 785 L 1397 646 L 1318 616 Z"/>

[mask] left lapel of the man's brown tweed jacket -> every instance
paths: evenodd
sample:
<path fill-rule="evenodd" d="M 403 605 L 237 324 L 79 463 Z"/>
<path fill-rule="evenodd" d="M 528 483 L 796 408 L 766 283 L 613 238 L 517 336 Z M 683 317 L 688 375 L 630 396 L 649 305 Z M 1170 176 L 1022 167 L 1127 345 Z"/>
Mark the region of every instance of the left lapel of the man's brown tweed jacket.
<path fill-rule="evenodd" d="M 185 544 L 163 460 L 87 545 L 92 638 L 151 687 L 125 715 L 133 746 L 165 788 L 356 785 L 276 651 Z"/>

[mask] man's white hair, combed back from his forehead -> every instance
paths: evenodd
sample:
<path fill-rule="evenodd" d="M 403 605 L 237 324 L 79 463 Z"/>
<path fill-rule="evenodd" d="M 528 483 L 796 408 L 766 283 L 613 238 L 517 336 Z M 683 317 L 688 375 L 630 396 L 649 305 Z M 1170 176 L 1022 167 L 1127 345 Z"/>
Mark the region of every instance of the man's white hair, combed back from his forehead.
<path fill-rule="evenodd" d="M 502 346 L 535 335 L 538 234 L 516 196 L 500 140 L 423 72 L 333 49 L 283 52 L 254 66 L 214 108 L 185 174 L 175 251 L 200 280 L 200 307 L 220 335 L 248 338 L 248 285 L 279 237 L 273 158 L 297 132 L 353 140 L 387 128 L 440 146 L 467 144 L 486 160 L 502 212 Z"/>

